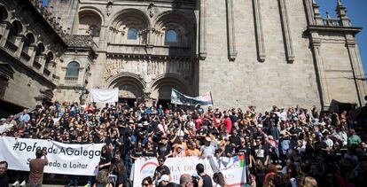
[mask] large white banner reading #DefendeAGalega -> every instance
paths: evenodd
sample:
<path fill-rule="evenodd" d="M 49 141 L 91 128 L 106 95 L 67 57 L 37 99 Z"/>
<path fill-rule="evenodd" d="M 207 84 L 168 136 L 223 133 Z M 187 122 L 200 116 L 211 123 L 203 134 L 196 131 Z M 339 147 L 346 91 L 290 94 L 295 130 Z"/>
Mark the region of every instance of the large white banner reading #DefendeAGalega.
<path fill-rule="evenodd" d="M 47 151 L 49 164 L 45 173 L 66 175 L 96 175 L 104 144 L 62 144 L 41 139 L 0 137 L 0 160 L 6 160 L 9 169 L 29 171 L 29 160 L 35 151 Z"/>

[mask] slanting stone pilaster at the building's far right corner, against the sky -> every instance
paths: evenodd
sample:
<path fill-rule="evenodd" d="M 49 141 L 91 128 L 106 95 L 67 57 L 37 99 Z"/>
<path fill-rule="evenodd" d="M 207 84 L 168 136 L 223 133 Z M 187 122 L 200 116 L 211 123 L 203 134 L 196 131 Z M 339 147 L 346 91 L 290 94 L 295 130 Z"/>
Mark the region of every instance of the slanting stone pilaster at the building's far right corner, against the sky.
<path fill-rule="evenodd" d="M 353 78 L 355 80 L 355 89 L 358 94 L 359 106 L 363 106 L 363 97 L 366 94 L 365 83 L 363 81 L 364 73 L 361 62 L 361 56 L 359 54 L 358 48 L 356 46 L 355 38 L 352 34 L 346 35 L 347 41 L 347 52 L 349 55 L 350 66 L 353 70 Z"/>

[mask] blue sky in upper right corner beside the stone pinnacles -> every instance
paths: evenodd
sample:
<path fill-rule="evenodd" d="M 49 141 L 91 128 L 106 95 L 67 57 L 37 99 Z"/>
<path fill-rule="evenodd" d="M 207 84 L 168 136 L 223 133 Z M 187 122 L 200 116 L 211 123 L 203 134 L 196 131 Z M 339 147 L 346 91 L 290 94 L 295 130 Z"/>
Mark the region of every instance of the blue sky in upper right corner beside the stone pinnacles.
<path fill-rule="evenodd" d="M 331 16 L 336 18 L 335 8 L 337 0 L 316 0 L 320 5 L 320 12 L 325 16 L 325 12 L 329 11 Z M 356 35 L 361 53 L 364 74 L 367 74 L 367 0 L 341 0 L 341 3 L 347 7 L 347 16 L 352 21 L 353 27 L 363 27 L 361 33 Z"/>

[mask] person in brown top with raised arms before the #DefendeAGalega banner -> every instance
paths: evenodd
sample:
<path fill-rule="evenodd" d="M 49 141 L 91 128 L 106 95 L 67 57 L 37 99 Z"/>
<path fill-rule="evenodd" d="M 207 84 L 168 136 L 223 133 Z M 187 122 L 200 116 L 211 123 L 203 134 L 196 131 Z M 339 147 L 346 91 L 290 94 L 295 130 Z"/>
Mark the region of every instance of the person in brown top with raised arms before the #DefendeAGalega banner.
<path fill-rule="evenodd" d="M 29 161 L 29 176 L 27 187 L 41 187 L 43 183 L 43 169 L 49 164 L 46 150 L 35 151 L 35 159 Z"/>

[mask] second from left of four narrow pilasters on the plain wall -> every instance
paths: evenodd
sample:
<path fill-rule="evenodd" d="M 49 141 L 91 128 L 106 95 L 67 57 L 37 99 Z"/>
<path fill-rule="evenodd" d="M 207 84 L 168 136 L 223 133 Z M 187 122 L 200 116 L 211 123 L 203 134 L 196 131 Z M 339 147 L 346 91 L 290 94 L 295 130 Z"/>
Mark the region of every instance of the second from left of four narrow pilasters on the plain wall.
<path fill-rule="evenodd" d="M 233 18 L 233 0 L 227 0 L 227 33 L 228 33 L 228 51 L 230 60 L 234 61 L 237 56 L 235 26 Z"/>

